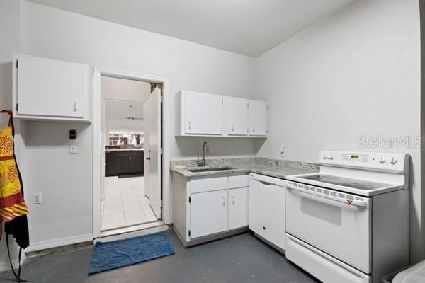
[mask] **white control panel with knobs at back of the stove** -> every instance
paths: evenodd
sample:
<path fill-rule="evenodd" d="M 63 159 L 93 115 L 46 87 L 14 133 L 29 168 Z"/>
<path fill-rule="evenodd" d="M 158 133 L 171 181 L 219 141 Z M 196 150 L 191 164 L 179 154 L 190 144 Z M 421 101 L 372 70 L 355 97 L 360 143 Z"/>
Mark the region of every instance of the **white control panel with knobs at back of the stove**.
<path fill-rule="evenodd" d="M 407 172 L 409 154 L 389 152 L 321 151 L 319 163 L 395 173 Z"/>

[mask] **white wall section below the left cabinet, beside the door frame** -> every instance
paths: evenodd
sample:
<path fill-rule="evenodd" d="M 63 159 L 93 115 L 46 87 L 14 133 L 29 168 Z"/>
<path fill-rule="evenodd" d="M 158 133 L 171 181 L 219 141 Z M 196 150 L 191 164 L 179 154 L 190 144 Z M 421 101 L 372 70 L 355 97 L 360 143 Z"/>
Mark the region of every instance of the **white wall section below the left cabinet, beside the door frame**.
<path fill-rule="evenodd" d="M 77 141 L 69 139 L 77 129 Z M 30 204 L 30 248 L 46 248 L 51 240 L 89 241 L 93 218 L 93 154 L 91 125 L 28 122 L 26 166 L 28 192 L 42 192 L 42 204 Z M 78 154 L 69 154 L 77 144 Z"/>

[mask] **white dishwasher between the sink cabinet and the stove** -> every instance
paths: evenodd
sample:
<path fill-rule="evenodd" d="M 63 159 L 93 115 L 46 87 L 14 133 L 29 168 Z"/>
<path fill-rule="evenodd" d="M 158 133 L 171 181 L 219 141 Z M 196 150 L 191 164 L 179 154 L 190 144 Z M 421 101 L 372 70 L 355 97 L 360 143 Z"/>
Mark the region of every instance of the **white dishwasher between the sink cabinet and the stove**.
<path fill-rule="evenodd" d="M 249 229 L 285 250 L 285 180 L 249 174 Z"/>

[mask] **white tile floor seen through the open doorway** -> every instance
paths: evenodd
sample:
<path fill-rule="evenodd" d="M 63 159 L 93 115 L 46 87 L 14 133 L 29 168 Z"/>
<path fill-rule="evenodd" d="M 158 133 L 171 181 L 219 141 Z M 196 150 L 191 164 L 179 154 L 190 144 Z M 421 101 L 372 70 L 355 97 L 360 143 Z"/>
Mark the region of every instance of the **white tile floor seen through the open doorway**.
<path fill-rule="evenodd" d="M 106 177 L 102 231 L 156 220 L 145 196 L 144 177 Z"/>

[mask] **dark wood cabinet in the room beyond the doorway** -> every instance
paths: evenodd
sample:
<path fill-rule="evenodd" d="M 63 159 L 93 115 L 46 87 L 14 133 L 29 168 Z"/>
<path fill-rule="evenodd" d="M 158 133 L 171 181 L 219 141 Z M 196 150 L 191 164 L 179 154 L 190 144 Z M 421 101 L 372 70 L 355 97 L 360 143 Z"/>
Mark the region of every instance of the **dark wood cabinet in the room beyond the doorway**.
<path fill-rule="evenodd" d="M 143 175 L 143 150 L 115 150 L 105 152 L 106 177 L 119 175 Z"/>

